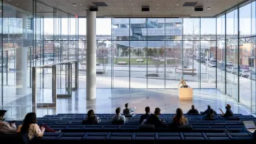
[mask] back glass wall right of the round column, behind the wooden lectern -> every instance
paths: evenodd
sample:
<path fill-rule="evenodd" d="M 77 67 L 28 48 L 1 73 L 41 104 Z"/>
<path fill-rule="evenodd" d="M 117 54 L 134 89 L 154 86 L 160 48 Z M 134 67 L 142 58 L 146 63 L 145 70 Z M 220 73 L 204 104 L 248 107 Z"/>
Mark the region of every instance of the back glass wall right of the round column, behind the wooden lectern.
<path fill-rule="evenodd" d="M 215 18 L 113 18 L 112 88 L 215 88 L 214 28 Z"/>

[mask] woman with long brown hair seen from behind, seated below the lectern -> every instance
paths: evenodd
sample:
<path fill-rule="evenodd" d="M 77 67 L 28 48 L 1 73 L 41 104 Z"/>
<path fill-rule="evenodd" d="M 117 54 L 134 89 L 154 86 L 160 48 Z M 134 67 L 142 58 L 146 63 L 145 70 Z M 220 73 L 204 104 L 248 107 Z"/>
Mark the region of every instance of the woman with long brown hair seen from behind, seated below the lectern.
<path fill-rule="evenodd" d="M 183 115 L 182 109 L 176 109 L 176 115 L 173 116 L 173 120 L 170 123 L 170 127 L 178 127 L 182 125 L 187 125 L 187 118 Z"/>

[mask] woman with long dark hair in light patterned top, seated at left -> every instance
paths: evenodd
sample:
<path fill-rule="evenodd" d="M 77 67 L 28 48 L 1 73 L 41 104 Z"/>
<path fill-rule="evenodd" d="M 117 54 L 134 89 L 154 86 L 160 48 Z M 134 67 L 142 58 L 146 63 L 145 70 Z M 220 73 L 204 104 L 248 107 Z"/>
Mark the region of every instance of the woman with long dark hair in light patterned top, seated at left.
<path fill-rule="evenodd" d="M 23 134 L 27 134 L 29 140 L 35 137 L 43 137 L 44 132 L 61 132 L 61 131 L 54 131 L 50 127 L 47 127 L 45 124 L 40 126 L 36 124 L 36 114 L 35 113 L 28 113 L 24 120 L 23 124 L 21 124 L 17 128 L 17 132 L 21 132 Z"/>

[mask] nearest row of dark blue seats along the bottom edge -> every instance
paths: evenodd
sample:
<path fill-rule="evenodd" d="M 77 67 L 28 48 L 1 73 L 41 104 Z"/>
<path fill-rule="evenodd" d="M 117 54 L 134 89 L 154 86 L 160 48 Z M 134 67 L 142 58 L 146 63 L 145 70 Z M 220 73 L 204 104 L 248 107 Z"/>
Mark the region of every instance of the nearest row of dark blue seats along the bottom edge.
<path fill-rule="evenodd" d="M 19 143 L 14 135 L 1 135 L 2 144 Z M 165 144 L 165 143 L 254 143 L 250 133 L 209 133 L 209 132 L 61 132 L 45 133 L 31 144 Z"/>

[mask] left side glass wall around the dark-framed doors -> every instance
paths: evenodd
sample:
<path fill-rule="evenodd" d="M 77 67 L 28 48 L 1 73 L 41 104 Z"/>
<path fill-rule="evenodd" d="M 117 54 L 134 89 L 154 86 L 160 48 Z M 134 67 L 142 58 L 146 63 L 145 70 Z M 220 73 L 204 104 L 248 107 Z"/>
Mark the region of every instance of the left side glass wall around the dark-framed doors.
<path fill-rule="evenodd" d="M 32 67 L 76 60 L 77 18 L 38 1 L 28 2 L 28 11 L 0 2 L 1 109 L 11 111 L 9 117 L 24 117 L 20 109 L 32 111 L 35 105 Z M 58 94 L 62 93 L 61 79 L 65 81 L 58 68 Z M 50 68 L 39 68 L 37 87 L 37 102 L 50 102 Z"/>

